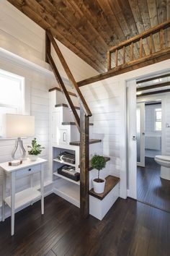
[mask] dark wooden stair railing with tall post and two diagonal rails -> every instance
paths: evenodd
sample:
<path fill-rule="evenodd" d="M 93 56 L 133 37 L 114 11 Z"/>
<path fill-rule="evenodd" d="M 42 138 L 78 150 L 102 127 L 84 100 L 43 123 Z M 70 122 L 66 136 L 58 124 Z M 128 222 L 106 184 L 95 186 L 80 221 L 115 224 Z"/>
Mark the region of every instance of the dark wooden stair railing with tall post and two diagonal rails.
<path fill-rule="evenodd" d="M 73 112 L 73 117 L 76 122 L 76 126 L 80 132 L 80 209 L 81 215 L 86 217 L 89 215 L 89 116 L 92 116 L 91 111 L 89 110 L 89 106 L 87 105 L 84 96 L 79 89 L 79 86 L 76 83 L 76 80 L 73 78 L 73 74 L 66 63 L 63 54 L 61 54 L 60 48 L 53 38 L 53 35 L 50 31 L 46 31 L 45 38 L 45 60 L 50 64 L 50 67 L 53 69 L 53 73 L 55 74 L 55 78 L 58 81 L 58 84 L 66 97 L 66 101 L 68 103 L 68 107 L 71 108 Z M 80 103 L 80 117 L 77 114 L 75 106 L 73 106 L 73 102 L 71 101 L 70 93 L 66 89 L 66 86 L 63 83 L 60 73 L 53 61 L 53 57 L 50 54 L 50 46 L 51 43 L 53 48 L 55 49 L 55 53 L 58 55 L 58 58 L 63 65 L 63 69 L 65 70 L 69 81 L 76 93 L 76 96 Z"/>

